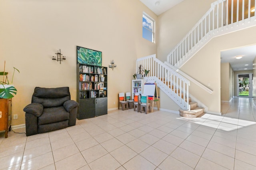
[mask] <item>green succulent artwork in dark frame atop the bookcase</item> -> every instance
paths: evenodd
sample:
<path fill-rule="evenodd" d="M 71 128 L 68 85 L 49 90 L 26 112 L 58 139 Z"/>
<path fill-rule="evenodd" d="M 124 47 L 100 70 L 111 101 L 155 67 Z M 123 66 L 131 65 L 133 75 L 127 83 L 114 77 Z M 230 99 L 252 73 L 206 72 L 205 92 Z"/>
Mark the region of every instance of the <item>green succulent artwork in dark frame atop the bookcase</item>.
<path fill-rule="evenodd" d="M 76 46 L 77 63 L 102 66 L 102 52 Z"/>

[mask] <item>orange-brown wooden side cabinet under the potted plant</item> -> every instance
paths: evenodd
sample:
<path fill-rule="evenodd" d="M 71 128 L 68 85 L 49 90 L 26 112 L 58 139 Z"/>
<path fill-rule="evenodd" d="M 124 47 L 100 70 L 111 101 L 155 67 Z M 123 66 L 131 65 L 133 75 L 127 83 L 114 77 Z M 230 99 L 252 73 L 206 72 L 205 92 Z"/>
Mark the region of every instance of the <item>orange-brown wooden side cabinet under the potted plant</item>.
<path fill-rule="evenodd" d="M 5 138 L 8 137 L 12 120 L 12 99 L 0 98 L 0 131 L 5 131 Z"/>

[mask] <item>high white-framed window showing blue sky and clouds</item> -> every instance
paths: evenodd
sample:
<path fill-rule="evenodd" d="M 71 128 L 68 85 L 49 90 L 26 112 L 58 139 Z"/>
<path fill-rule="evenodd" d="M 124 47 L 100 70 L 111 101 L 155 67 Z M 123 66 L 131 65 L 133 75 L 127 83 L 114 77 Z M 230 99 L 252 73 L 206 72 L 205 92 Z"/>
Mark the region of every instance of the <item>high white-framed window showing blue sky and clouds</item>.
<path fill-rule="evenodd" d="M 150 42 L 155 42 L 155 20 L 143 12 L 142 37 Z"/>

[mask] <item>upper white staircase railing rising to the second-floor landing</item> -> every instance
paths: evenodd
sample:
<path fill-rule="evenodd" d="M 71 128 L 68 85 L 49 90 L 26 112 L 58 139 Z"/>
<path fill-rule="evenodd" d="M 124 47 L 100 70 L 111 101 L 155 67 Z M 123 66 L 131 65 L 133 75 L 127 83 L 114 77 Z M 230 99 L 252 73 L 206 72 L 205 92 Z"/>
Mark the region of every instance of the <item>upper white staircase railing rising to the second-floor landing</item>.
<path fill-rule="evenodd" d="M 180 68 L 216 36 L 256 25 L 256 0 L 218 0 L 168 54 L 167 62 Z"/>

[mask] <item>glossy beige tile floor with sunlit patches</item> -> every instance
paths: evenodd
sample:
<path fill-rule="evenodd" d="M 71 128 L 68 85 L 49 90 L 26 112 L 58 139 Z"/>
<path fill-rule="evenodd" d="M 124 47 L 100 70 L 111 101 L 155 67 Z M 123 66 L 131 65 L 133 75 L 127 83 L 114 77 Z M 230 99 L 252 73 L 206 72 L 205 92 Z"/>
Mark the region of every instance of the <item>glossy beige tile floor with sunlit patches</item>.
<path fill-rule="evenodd" d="M 187 119 L 115 110 L 49 133 L 0 133 L 0 169 L 256 170 L 252 99 L 222 103 L 222 113 Z"/>

